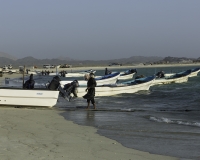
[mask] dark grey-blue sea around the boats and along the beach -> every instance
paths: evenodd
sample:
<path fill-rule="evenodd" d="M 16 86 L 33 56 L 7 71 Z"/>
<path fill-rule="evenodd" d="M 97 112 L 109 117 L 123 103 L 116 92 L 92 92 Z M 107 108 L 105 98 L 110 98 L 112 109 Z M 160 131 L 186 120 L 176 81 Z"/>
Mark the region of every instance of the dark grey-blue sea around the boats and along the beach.
<path fill-rule="evenodd" d="M 199 66 L 136 69 L 137 75 L 151 76 L 161 70 L 177 73 L 196 67 Z M 134 69 L 134 66 L 109 70 L 127 69 Z M 104 70 L 97 70 L 95 74 L 104 75 Z M 52 78 L 34 76 L 36 87 L 44 87 Z M 21 79 L 12 79 L 9 85 L 21 82 Z M 59 98 L 53 109 L 62 110 L 60 116 L 66 120 L 95 127 L 98 134 L 125 147 L 183 160 L 200 160 L 200 73 L 186 83 L 151 86 L 148 91 L 132 94 L 95 97 L 95 101 L 96 111 L 86 110 L 87 103 L 83 98 L 72 102 Z"/>

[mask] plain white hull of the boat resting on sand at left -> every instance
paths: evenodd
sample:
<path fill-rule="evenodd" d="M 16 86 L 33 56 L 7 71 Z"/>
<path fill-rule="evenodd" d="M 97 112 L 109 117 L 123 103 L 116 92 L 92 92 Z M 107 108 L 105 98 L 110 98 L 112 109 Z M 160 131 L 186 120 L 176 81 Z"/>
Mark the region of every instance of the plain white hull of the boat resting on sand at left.
<path fill-rule="evenodd" d="M 0 89 L 0 105 L 53 107 L 58 95 L 51 90 Z"/>

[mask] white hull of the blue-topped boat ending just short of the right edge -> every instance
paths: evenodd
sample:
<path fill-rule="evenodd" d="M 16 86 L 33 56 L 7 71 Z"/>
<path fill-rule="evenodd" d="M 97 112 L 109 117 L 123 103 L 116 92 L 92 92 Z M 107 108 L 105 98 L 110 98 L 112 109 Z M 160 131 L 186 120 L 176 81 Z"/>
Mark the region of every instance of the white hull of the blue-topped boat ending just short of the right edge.
<path fill-rule="evenodd" d="M 166 78 L 158 78 L 152 83 L 152 85 L 157 84 L 170 84 L 170 83 L 184 83 L 188 81 L 188 76 L 174 78 L 174 79 L 166 79 Z"/>

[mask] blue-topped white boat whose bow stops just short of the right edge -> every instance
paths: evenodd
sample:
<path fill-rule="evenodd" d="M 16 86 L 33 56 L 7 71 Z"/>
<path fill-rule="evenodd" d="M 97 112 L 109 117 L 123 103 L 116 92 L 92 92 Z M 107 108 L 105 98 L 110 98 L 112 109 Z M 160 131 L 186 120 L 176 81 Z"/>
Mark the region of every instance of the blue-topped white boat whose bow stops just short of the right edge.
<path fill-rule="evenodd" d="M 170 83 L 183 83 L 188 81 L 188 77 L 191 74 L 191 70 L 179 72 L 179 73 L 169 73 L 164 74 L 163 77 L 157 77 L 152 85 L 157 84 L 170 84 Z"/>

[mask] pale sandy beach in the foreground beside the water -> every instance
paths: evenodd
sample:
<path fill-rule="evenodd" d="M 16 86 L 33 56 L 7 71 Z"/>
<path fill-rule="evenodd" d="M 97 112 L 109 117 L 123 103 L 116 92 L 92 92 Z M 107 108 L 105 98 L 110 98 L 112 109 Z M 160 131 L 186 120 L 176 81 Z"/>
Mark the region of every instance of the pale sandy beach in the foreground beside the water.
<path fill-rule="evenodd" d="M 64 119 L 63 111 L 1 107 L 1 159 L 175 160 L 122 146 L 97 129 Z M 8 118 L 9 117 L 9 118 Z M 16 154 L 18 153 L 18 154 Z"/>

